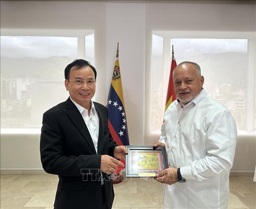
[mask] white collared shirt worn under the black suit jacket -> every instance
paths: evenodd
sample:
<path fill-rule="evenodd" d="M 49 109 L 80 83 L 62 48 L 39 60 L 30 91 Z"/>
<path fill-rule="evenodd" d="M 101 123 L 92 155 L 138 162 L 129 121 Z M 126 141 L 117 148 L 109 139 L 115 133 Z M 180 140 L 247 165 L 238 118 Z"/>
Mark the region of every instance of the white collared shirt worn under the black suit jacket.
<path fill-rule="evenodd" d="M 90 116 L 89 116 L 87 109 L 85 109 L 81 105 L 77 104 L 71 98 L 70 98 L 70 100 L 74 103 L 74 105 L 77 107 L 79 112 L 82 114 L 84 122 L 87 126 L 89 133 L 90 133 L 90 136 L 92 137 L 92 141 L 93 141 L 96 153 L 98 153 L 99 116 L 95 109 L 94 103 L 92 102 L 92 100 L 90 101 L 91 109 L 90 109 Z"/>

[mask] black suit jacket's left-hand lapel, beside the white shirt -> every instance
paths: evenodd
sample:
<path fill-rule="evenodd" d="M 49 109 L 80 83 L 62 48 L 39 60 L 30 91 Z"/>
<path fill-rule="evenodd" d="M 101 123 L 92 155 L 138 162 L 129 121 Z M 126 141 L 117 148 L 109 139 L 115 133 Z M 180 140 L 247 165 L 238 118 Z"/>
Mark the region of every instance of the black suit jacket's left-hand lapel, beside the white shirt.
<path fill-rule="evenodd" d="M 94 144 L 92 142 L 92 138 L 90 136 L 90 133 L 87 129 L 86 124 L 84 123 L 84 119 L 77 109 L 77 107 L 74 105 L 74 103 L 68 98 L 66 100 L 66 106 L 65 108 L 69 109 L 67 116 L 70 118 L 70 120 L 74 123 L 74 125 L 77 127 L 77 129 L 80 131 L 80 133 L 84 136 L 87 143 L 90 145 L 90 148 L 94 152 L 94 154 L 97 154 L 95 151 Z"/>

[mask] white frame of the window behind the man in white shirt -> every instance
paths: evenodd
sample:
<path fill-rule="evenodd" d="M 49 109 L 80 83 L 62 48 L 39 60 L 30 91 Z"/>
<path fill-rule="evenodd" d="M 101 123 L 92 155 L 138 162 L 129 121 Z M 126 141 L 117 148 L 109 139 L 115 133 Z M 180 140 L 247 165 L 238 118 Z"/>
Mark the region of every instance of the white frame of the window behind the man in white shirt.
<path fill-rule="evenodd" d="M 256 76 L 256 36 L 254 32 L 223 32 L 223 31 L 152 31 L 151 34 L 151 47 L 152 47 L 152 35 L 163 37 L 163 69 L 159 69 L 162 75 L 166 75 L 170 71 L 171 66 L 171 39 L 172 38 L 212 38 L 212 39 L 247 39 L 248 40 L 248 75 L 247 75 L 247 96 L 246 96 L 246 130 L 238 130 L 238 135 L 255 135 L 255 86 L 256 81 L 251 78 Z M 152 49 L 151 49 L 152 50 Z M 174 48 L 175 50 L 175 48 Z M 175 57 L 175 51 L 174 51 Z M 150 56 L 150 63 L 152 63 L 152 51 Z M 177 63 L 178 64 L 178 63 Z M 152 77 L 152 66 L 150 67 L 150 78 Z M 152 78 L 151 78 L 152 79 Z M 152 81 L 146 80 L 147 89 L 152 89 Z M 169 76 L 163 76 L 164 79 L 169 79 Z M 168 82 L 168 81 L 167 81 Z M 163 82 L 164 83 L 164 82 Z M 150 88 L 149 88 L 150 87 Z M 166 95 L 167 89 L 162 88 L 163 95 Z M 146 98 L 145 104 L 149 104 L 145 107 L 145 111 L 151 115 L 151 94 L 148 94 L 149 98 Z M 164 106 L 165 101 L 162 101 Z M 251 105 L 254 104 L 254 105 Z M 161 116 L 159 116 L 161 117 Z M 162 116 L 163 117 L 163 116 Z M 145 117 L 146 118 L 146 117 Z M 145 123 L 145 135 L 156 137 L 161 134 L 159 132 L 151 132 L 151 117 L 147 117 L 149 121 Z M 161 127 L 159 127 L 160 130 Z"/>

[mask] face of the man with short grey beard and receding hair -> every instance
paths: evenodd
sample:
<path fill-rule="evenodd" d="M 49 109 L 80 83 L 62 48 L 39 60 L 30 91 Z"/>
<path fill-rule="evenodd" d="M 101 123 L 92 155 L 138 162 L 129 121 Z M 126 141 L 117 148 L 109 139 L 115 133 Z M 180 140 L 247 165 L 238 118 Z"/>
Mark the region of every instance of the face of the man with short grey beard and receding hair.
<path fill-rule="evenodd" d="M 204 84 L 204 76 L 197 75 L 194 65 L 185 63 L 176 68 L 173 81 L 176 97 L 186 105 L 199 95 Z"/>

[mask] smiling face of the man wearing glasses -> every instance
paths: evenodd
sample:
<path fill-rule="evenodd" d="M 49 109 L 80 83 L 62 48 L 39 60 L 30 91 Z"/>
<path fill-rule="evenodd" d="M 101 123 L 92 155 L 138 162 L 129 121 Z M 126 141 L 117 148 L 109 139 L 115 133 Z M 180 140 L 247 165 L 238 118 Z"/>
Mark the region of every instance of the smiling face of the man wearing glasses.
<path fill-rule="evenodd" d="M 73 67 L 74 68 L 74 67 Z M 84 66 L 79 70 L 71 68 L 69 80 L 94 80 L 94 71 L 90 66 Z M 69 90 L 70 98 L 77 104 L 86 109 L 90 109 L 90 100 L 95 94 L 96 85 L 89 86 L 86 82 L 83 85 L 77 85 L 75 82 L 65 80 L 65 87 Z"/>

